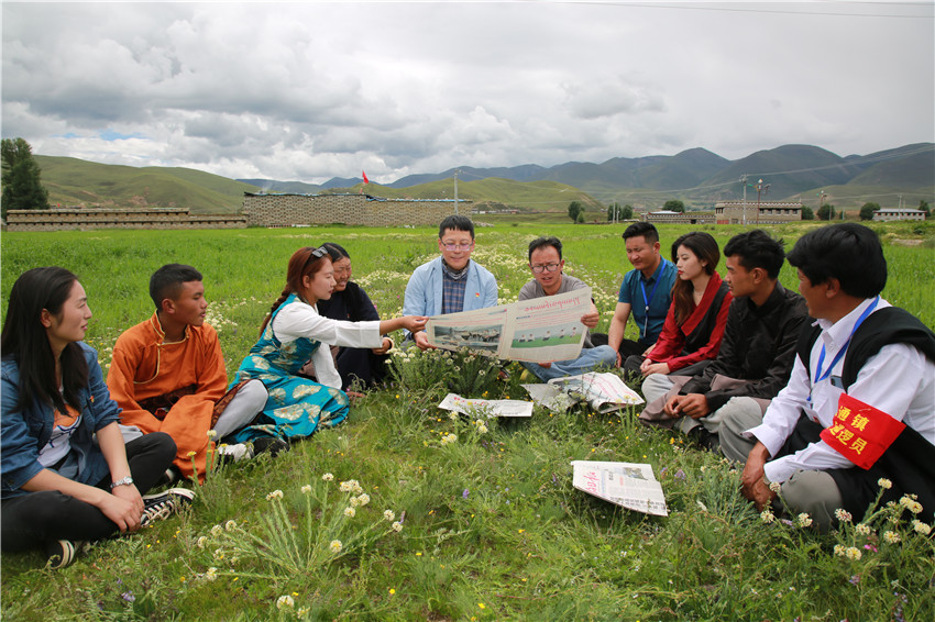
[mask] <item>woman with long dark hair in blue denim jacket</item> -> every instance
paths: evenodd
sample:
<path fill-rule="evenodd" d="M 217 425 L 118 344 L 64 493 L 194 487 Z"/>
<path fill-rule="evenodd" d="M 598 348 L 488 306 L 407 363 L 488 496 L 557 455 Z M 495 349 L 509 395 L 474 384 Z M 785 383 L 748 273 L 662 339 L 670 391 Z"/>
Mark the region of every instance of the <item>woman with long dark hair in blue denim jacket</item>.
<path fill-rule="evenodd" d="M 34 268 L 13 285 L 0 337 L 0 542 L 4 553 L 42 547 L 54 567 L 74 559 L 76 542 L 134 532 L 191 498 L 141 496 L 175 442 L 157 433 L 124 446 L 97 353 L 80 343 L 90 318 L 75 275 Z"/>

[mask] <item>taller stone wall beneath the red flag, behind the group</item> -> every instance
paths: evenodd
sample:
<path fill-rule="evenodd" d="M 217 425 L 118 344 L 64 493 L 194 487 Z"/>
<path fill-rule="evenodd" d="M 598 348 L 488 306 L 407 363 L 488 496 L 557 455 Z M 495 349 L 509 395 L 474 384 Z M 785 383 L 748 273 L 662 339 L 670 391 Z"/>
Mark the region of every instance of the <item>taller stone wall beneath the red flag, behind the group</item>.
<path fill-rule="evenodd" d="M 471 213 L 459 201 L 459 213 Z M 381 199 L 370 195 L 279 195 L 244 192 L 250 226 L 360 224 L 365 226 L 437 225 L 454 213 L 454 201 Z"/>

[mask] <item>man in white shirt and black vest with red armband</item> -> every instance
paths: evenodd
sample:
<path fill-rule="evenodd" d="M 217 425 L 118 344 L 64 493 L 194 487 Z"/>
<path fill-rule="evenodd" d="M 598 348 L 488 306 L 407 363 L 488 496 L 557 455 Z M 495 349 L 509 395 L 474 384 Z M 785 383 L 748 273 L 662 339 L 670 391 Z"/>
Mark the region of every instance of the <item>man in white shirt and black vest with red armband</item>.
<path fill-rule="evenodd" d="M 813 230 L 788 258 L 816 322 L 803 331 L 789 384 L 762 422 L 722 423 L 725 455 L 746 458 L 744 496 L 760 510 L 771 503 L 779 510 L 778 488 L 792 512 L 807 512 L 826 530 L 838 509 L 862 518 L 879 482 L 890 480 L 882 502 L 916 495 L 917 517 L 931 522 L 935 334 L 880 298 L 887 260 L 870 229 L 842 223 Z M 900 430 L 895 440 L 880 433 L 893 426 Z M 869 446 L 879 448 L 877 457 L 868 457 Z"/>

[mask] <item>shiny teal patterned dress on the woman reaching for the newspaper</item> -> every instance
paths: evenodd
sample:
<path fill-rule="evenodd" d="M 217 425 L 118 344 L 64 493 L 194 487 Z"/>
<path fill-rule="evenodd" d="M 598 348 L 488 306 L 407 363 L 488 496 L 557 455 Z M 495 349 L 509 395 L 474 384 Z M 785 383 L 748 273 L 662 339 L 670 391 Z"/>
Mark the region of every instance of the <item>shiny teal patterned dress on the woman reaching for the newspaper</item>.
<path fill-rule="evenodd" d="M 321 342 L 299 337 L 283 344 L 276 338 L 273 321 L 293 302 L 295 293 L 276 309 L 231 384 L 256 379 L 270 393 L 255 423 L 232 435 L 238 443 L 261 436 L 310 436 L 319 427 L 332 427 L 348 416 L 350 400 L 344 391 L 297 376 Z"/>

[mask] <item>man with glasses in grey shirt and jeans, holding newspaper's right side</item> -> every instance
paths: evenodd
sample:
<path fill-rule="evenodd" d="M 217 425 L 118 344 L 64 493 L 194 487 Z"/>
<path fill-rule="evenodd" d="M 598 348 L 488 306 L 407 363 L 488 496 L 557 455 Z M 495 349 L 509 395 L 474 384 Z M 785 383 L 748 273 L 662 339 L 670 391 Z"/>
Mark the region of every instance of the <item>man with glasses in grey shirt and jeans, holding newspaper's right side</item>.
<path fill-rule="evenodd" d="M 586 288 L 587 286 L 581 279 L 562 273 L 564 265 L 562 243 L 558 237 L 538 237 L 530 242 L 529 269 L 532 271 L 534 278 L 519 290 L 519 300 L 544 298 Z M 592 301 L 591 310 L 581 316 L 581 323 L 587 331 L 587 329 L 596 326 L 600 319 L 597 308 Z M 563 376 L 586 374 L 600 367 L 613 367 L 616 360 L 617 354 L 613 348 L 606 345 L 595 347 L 591 343 L 590 333 L 585 332 L 584 344 L 578 358 L 544 364 L 522 362 L 522 366 L 540 380 L 550 380 Z"/>

